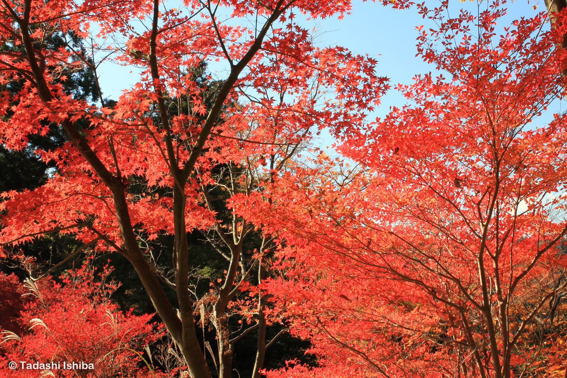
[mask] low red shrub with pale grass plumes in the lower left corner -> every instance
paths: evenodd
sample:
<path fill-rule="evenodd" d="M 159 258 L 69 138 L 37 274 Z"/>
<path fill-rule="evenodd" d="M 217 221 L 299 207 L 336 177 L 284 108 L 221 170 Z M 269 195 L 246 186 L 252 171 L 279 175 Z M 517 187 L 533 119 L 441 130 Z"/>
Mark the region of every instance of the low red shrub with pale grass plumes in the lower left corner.
<path fill-rule="evenodd" d="M 109 300 L 117 288 L 117 283 L 105 282 L 109 273 L 104 270 L 95 279 L 85 265 L 66 273 L 61 283 L 49 277 L 23 284 L 13 275 L 0 275 L 7 294 L 18 292 L 28 298 L 20 314 L 6 313 L 12 315 L 6 320 L 18 324 L 22 333 L 2 329 L 0 376 L 150 377 L 136 352 L 143 353 L 162 333 L 149 323 L 152 315 L 122 313 Z M 1 295 L 4 298 L 4 292 Z M 18 367 L 10 368 L 9 362 Z M 92 365 L 73 369 L 65 368 L 64 362 Z M 44 366 L 23 368 L 28 363 Z M 57 366 L 45 368 L 52 363 Z"/>

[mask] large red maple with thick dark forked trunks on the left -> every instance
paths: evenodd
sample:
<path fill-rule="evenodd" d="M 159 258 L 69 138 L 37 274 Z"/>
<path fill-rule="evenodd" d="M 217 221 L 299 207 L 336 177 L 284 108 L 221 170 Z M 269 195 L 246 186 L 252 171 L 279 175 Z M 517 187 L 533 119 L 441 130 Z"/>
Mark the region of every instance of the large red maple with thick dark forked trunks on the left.
<path fill-rule="evenodd" d="M 0 83 L 22 86 L 15 94 L 2 92 L 1 142 L 11 151 L 22 150 L 32 135 L 57 127 L 68 142 L 34 151 L 55 163 L 44 185 L 2 194 L 0 243 L 29 243 L 58 232 L 82 241 L 76 253 L 106 248 L 122 254 L 193 378 L 210 377 L 211 370 L 198 342 L 196 317 L 202 317 L 202 326 L 210 319 L 217 329 L 218 374 L 227 377 L 234 350 L 227 309 L 237 303 L 242 314 L 256 306 L 259 370 L 266 347 L 262 330 L 271 321 L 263 315 L 265 294 L 258 291 L 256 302 L 234 300 L 248 290 L 251 272 L 242 248 L 254 226 L 236 216 L 222 222 L 223 211 L 213 206 L 209 190 L 250 194 L 259 188 L 259 175 L 285 168 L 310 130 L 356 128 L 363 112 L 379 103 L 387 80 L 376 75 L 375 60 L 340 46 L 319 48 L 312 33 L 295 22 L 297 14 L 342 17 L 349 10 L 348 1 L 197 0 L 176 9 L 159 0 L 3 0 L 0 38 L 6 48 L 0 50 Z M 223 22 L 221 12 L 227 15 Z M 250 22 L 252 17 L 257 21 Z M 147 23 L 145 29 L 137 28 L 140 22 Z M 91 24 L 97 30 L 92 49 L 141 68 L 139 82 L 116 104 L 103 99 L 98 82 L 100 106 L 62 84 L 66 75 L 85 67 L 97 75 L 95 62 L 68 38 L 86 38 Z M 50 36 L 63 44 L 46 45 Z M 218 86 L 212 78 L 197 80 L 202 62 L 221 60 L 229 74 Z M 188 233 L 194 230 L 213 244 L 224 243 L 225 273 L 211 279 L 208 295 L 192 292 L 189 282 L 195 266 Z M 161 249 L 154 249 L 163 235 L 174 239 L 171 276 L 156 257 Z M 263 253 L 260 249 L 260 280 Z M 175 300 L 164 286 L 175 291 Z"/>

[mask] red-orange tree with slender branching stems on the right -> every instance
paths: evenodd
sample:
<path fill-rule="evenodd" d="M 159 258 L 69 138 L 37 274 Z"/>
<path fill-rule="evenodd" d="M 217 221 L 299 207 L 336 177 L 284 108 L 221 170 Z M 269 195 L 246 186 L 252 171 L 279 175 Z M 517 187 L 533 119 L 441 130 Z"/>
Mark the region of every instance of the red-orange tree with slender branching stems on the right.
<path fill-rule="evenodd" d="M 565 10 L 516 20 L 429 9 L 412 104 L 346 130 L 265 190 L 235 196 L 280 240 L 264 288 L 321 367 L 291 376 L 564 376 Z M 340 136 L 340 135 L 337 135 Z"/>

